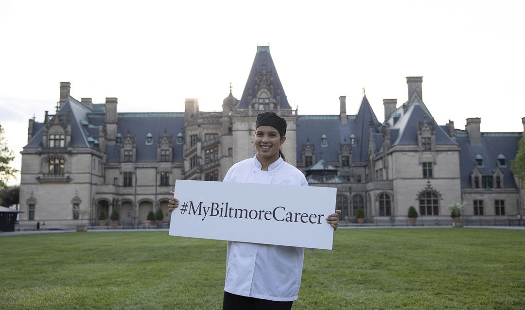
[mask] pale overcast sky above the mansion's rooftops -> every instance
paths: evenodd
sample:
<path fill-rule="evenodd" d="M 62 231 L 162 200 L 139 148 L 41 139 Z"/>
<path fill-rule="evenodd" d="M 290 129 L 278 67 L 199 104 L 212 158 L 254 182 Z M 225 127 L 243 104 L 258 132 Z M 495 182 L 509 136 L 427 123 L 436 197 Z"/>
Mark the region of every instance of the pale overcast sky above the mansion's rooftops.
<path fill-rule="evenodd" d="M 355 113 L 362 89 L 380 121 L 383 99 L 407 100 L 423 77 L 438 124 L 481 117 L 481 131 L 521 132 L 525 117 L 521 1 L 10 1 L 0 2 L 0 123 L 20 154 L 27 121 L 72 97 L 119 112 L 182 112 L 196 97 L 220 111 L 240 99 L 257 45 L 270 46 L 299 115 Z M 11 183 L 18 183 L 12 180 Z"/>

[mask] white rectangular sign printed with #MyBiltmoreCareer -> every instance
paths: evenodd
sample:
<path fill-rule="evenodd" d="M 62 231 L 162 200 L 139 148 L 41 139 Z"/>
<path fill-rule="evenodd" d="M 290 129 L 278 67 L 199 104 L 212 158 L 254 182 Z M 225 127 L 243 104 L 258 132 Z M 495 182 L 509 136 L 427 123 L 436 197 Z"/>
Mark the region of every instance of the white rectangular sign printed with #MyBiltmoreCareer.
<path fill-rule="evenodd" d="M 333 187 L 176 180 L 170 236 L 332 249 Z"/>

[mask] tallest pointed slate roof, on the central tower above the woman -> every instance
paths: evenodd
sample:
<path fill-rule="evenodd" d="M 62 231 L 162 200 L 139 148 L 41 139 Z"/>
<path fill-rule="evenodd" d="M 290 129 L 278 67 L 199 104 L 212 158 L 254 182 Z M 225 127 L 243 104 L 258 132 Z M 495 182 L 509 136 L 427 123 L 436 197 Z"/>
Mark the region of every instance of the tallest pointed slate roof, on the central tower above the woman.
<path fill-rule="evenodd" d="M 282 88 L 281 80 L 277 74 L 274 60 L 271 58 L 269 46 L 257 47 L 254 63 L 251 65 L 251 70 L 244 87 L 243 95 L 240 97 L 239 104 L 237 105 L 237 109 L 248 109 L 248 93 L 251 93 L 251 97 L 255 98 L 257 95 L 257 91 L 255 90 L 257 75 L 264 70 L 271 73 L 274 96 L 277 98 L 277 94 L 279 94 L 280 108 L 291 109 L 288 99 L 286 98 L 285 89 Z"/>

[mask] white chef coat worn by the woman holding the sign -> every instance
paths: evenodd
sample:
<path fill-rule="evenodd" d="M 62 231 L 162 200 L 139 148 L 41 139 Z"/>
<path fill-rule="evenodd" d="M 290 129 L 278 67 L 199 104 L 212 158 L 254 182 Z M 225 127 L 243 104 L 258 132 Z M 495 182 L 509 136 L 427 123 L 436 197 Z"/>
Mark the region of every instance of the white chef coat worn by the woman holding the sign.
<path fill-rule="evenodd" d="M 233 165 L 224 182 L 308 186 L 304 175 L 281 157 L 261 170 L 257 157 Z M 254 199 L 264 199 L 261 193 Z M 301 284 L 304 248 L 228 241 L 224 291 L 271 301 L 295 301 Z"/>

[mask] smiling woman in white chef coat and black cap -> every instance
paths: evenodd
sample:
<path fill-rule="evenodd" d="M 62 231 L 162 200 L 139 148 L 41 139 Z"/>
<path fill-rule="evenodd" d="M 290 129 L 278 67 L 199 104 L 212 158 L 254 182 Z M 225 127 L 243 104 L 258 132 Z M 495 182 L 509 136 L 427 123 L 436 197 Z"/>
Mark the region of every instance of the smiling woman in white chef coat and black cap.
<path fill-rule="evenodd" d="M 260 113 L 255 128 L 254 158 L 233 165 L 223 181 L 308 186 L 280 150 L 286 141 L 286 120 L 274 112 Z M 178 200 L 170 197 L 168 210 L 177 207 Z M 334 230 L 340 212 L 327 217 Z M 291 309 L 299 294 L 303 256 L 303 248 L 228 241 L 223 309 Z"/>

